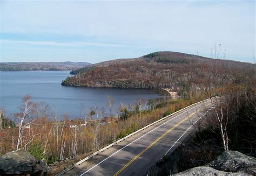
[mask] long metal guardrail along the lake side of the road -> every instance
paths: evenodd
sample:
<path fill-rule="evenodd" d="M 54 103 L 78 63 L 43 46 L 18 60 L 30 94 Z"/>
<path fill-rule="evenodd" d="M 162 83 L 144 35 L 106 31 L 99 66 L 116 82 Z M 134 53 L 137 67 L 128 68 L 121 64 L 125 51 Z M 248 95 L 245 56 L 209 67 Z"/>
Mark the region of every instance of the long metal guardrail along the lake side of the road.
<path fill-rule="evenodd" d="M 143 130 L 145 130 L 146 128 L 149 128 L 150 126 L 152 126 L 152 125 L 154 125 L 154 124 L 156 124 L 156 123 L 158 123 L 158 122 L 160 122 L 160 121 L 163 121 L 163 120 L 166 119 L 166 118 L 169 118 L 169 117 L 171 117 L 171 116 L 173 116 L 173 115 L 175 115 L 175 114 L 178 114 L 180 111 L 183 111 L 183 110 L 185 110 L 185 109 L 187 109 L 187 108 L 190 108 L 190 107 L 192 107 L 192 106 L 194 106 L 194 105 L 200 104 L 200 103 L 205 102 L 205 101 L 207 101 L 207 100 L 210 100 L 210 98 L 208 98 L 208 99 L 206 99 L 206 100 L 203 100 L 203 101 L 200 101 L 200 102 L 197 102 L 197 103 L 194 103 L 194 104 L 191 104 L 191 105 L 188 105 L 186 108 L 180 109 L 180 110 L 178 110 L 178 111 L 176 111 L 176 112 L 173 112 L 172 114 L 170 114 L 170 115 L 168 115 L 168 116 L 165 116 L 165 117 L 163 117 L 163 118 L 160 118 L 160 119 L 157 120 L 156 122 L 153 122 L 153 123 L 151 123 L 151 124 L 149 124 L 149 125 L 144 126 L 143 128 L 141 128 L 141 129 L 139 129 L 139 130 L 137 130 L 137 131 L 131 133 L 130 135 L 127 135 L 127 136 L 123 137 L 122 139 L 119 139 L 119 140 L 117 140 L 116 142 L 114 142 L 114 143 L 112 143 L 112 144 L 110 144 L 110 145 L 105 146 L 103 149 L 100 149 L 100 150 L 98 150 L 97 152 L 92 153 L 90 156 L 88 156 L 88 157 L 86 157 L 86 158 L 84 158 L 84 159 L 78 161 L 77 163 L 73 164 L 72 166 L 70 166 L 70 167 L 66 168 L 65 170 L 63 170 L 63 171 L 57 173 L 56 176 L 62 175 L 62 174 L 64 174 L 64 173 L 68 172 L 68 171 L 71 170 L 72 168 L 74 168 L 74 167 L 76 167 L 76 166 L 78 166 L 78 165 L 84 163 L 84 161 L 86 161 L 86 160 L 92 158 L 93 156 L 96 156 L 96 155 L 99 154 L 100 152 L 103 152 L 104 150 L 109 149 L 109 147 L 111 147 L 111 146 L 113 146 L 113 145 L 116 145 L 116 144 L 119 143 L 119 142 L 122 142 L 122 141 L 125 140 L 126 138 L 129 138 L 129 137 L 135 135 L 136 133 L 138 133 L 138 132 L 140 132 L 140 131 L 143 131 Z"/>

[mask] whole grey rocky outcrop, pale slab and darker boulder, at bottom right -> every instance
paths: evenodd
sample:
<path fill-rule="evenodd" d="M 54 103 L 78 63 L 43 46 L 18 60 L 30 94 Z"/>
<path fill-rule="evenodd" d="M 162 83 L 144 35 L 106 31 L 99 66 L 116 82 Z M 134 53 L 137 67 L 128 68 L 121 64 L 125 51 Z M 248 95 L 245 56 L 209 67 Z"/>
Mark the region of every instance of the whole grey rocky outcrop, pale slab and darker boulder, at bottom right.
<path fill-rule="evenodd" d="M 238 151 L 224 151 L 206 166 L 173 175 L 256 175 L 256 158 Z"/>

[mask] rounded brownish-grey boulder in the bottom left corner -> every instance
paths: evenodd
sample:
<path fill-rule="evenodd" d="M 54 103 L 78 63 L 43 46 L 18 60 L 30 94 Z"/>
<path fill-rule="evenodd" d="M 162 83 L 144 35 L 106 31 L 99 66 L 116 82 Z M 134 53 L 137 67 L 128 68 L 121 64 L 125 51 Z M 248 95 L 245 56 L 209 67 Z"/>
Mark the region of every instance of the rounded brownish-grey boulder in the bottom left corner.
<path fill-rule="evenodd" d="M 0 175 L 47 175 L 46 165 L 24 150 L 0 157 Z"/>

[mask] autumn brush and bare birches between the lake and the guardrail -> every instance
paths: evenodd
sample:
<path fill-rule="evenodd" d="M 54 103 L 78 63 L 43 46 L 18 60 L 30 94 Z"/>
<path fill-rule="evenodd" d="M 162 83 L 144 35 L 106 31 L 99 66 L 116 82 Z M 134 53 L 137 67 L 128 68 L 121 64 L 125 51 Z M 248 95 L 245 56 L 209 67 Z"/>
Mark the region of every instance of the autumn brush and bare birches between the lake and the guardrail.
<path fill-rule="evenodd" d="M 65 158 L 75 158 L 79 154 L 90 155 L 119 138 L 167 116 L 187 105 L 203 100 L 204 96 L 190 99 L 137 100 L 128 107 L 120 103 L 113 109 L 111 97 L 107 97 L 110 114 L 104 110 L 91 109 L 82 118 L 64 120 L 53 113 L 49 116 L 47 104 L 32 102 L 29 95 L 23 97 L 20 111 L 14 114 L 14 121 L 5 117 L 1 110 L 2 129 L 0 137 L 1 154 L 24 149 L 33 156 L 50 164 Z M 144 108 L 143 108 L 144 107 Z M 117 116 L 113 112 L 117 111 Z M 98 118 L 97 118 L 98 117 Z"/>

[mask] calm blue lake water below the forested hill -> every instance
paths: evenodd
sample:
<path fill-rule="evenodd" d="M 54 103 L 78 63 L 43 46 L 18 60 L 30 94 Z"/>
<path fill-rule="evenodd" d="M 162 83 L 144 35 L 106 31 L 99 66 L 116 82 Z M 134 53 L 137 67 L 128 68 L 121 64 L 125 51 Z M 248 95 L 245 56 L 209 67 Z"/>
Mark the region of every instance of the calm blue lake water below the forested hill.
<path fill-rule="evenodd" d="M 0 107 L 4 107 L 7 116 L 17 112 L 26 94 L 32 96 L 36 103 L 48 103 L 50 112 L 58 116 L 68 114 L 70 118 L 85 115 L 91 108 L 98 107 L 99 112 L 105 108 L 109 115 L 107 96 L 114 100 L 113 108 L 120 102 L 134 104 L 138 98 L 164 98 L 164 90 L 130 89 L 130 88 L 86 88 L 65 87 L 60 83 L 70 76 L 69 71 L 34 71 L 34 72 L 0 72 Z"/>

